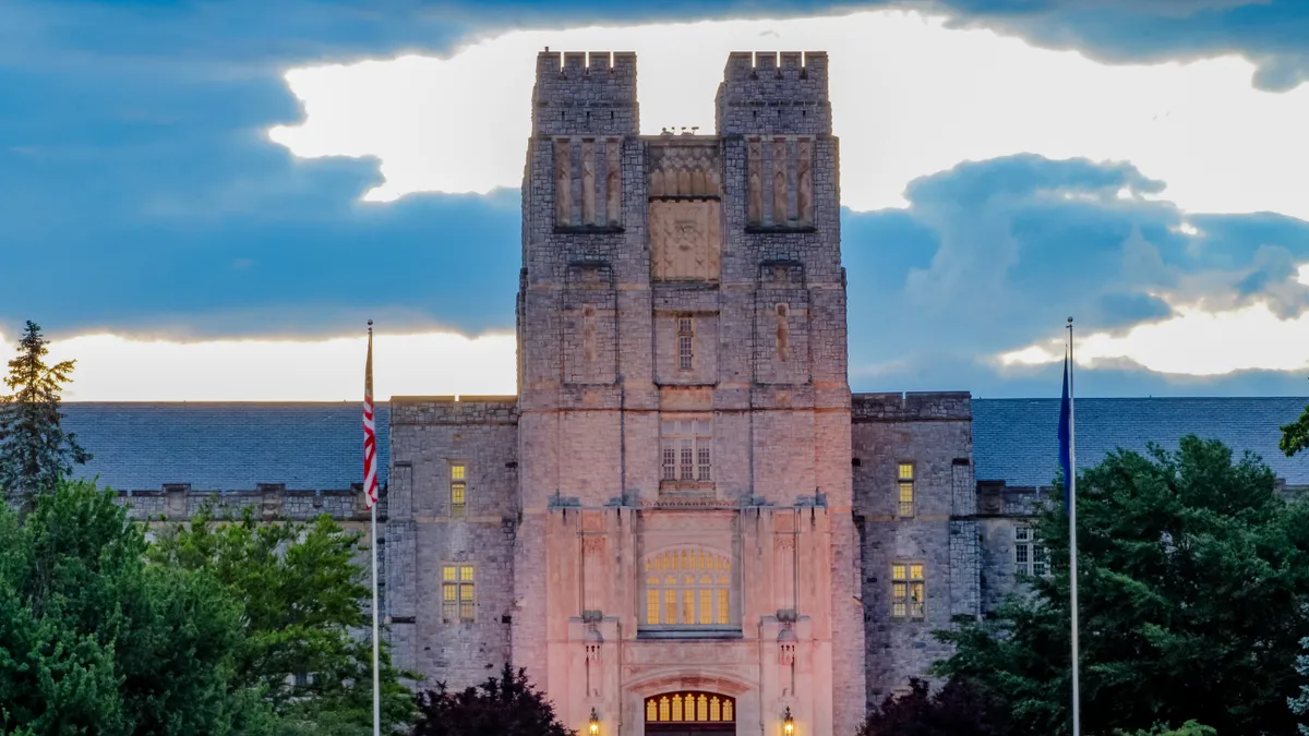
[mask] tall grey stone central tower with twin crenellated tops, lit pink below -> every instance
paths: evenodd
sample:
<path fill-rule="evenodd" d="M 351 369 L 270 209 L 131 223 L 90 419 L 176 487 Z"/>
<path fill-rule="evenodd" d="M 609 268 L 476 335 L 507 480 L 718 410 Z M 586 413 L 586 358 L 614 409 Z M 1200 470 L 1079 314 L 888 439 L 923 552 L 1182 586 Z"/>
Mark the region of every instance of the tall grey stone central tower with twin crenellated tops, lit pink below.
<path fill-rule="evenodd" d="M 825 54 L 639 135 L 632 54 L 537 58 L 512 652 L 569 726 L 853 732 L 864 705 Z"/>

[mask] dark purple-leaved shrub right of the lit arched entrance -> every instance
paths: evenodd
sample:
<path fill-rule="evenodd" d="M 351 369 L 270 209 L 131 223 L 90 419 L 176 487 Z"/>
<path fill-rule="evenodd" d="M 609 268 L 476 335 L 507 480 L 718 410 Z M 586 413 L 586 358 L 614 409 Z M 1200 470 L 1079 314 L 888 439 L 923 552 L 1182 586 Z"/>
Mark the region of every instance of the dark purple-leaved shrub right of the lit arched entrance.
<path fill-rule="evenodd" d="M 936 693 L 925 681 L 888 695 L 873 708 L 857 736 L 1001 736 L 1009 733 L 1004 708 L 965 680 L 950 680 Z"/>

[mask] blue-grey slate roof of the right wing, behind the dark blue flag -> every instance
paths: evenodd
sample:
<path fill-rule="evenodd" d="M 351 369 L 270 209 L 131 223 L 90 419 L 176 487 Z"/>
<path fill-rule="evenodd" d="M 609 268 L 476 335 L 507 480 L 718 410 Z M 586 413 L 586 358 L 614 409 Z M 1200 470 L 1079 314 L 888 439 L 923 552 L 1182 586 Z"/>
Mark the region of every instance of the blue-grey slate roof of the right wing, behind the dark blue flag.
<path fill-rule="evenodd" d="M 1278 449 L 1279 427 L 1293 422 L 1306 398 L 1079 398 L 1077 466 L 1122 448 L 1144 452 L 1153 440 L 1175 451 L 1187 433 L 1223 440 L 1237 457 L 1259 454 L 1288 485 L 1309 485 L 1309 456 Z M 973 399 L 973 460 L 978 481 L 1050 486 L 1059 468 L 1059 399 Z"/>

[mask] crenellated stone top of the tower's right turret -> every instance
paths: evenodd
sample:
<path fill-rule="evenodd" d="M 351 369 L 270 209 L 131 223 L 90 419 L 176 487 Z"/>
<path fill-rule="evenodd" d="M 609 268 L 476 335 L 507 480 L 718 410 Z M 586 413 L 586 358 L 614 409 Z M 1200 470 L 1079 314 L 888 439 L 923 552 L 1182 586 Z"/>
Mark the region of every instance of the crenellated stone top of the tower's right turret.
<path fill-rule="evenodd" d="M 733 51 L 716 110 L 719 135 L 831 135 L 827 54 Z"/>

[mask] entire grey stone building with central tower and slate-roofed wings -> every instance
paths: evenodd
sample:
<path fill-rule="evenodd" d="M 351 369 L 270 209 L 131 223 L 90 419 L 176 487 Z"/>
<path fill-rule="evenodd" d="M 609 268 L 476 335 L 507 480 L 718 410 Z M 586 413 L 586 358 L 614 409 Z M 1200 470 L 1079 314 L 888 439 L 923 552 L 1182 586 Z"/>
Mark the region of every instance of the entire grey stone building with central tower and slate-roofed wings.
<path fill-rule="evenodd" d="M 732 54 L 716 106 L 713 135 L 643 136 L 635 55 L 538 55 L 518 393 L 378 411 L 401 667 L 462 688 L 509 661 L 606 735 L 852 735 L 949 653 L 933 629 L 1043 568 L 1058 401 L 850 390 L 826 55 Z M 1083 465 L 1210 416 L 1275 452 L 1258 427 L 1304 403 L 1149 401 L 1079 402 Z M 68 414 L 136 515 L 367 520 L 353 405 Z"/>

